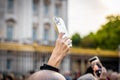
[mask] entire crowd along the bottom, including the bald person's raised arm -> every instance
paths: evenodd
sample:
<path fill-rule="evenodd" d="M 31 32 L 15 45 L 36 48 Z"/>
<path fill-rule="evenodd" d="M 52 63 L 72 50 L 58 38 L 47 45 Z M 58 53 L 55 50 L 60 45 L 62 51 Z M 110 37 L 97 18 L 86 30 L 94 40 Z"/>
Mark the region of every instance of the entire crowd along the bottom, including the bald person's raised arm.
<path fill-rule="evenodd" d="M 0 80 L 120 80 L 120 73 L 107 71 L 100 61 L 92 61 L 86 69 L 85 74 L 59 72 L 59 66 L 71 47 L 70 38 L 60 33 L 55 48 L 46 64 L 40 67 L 40 71 L 30 72 L 24 76 L 8 73 L 0 74 Z M 99 70 L 100 69 L 100 70 Z"/>

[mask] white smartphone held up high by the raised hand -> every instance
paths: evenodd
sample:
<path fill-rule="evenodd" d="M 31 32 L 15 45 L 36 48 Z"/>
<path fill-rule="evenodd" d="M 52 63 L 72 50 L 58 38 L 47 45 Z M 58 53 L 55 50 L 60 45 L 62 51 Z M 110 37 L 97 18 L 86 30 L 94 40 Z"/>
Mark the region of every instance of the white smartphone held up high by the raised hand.
<path fill-rule="evenodd" d="M 53 17 L 53 22 L 55 24 L 55 29 L 58 33 L 65 33 L 63 37 L 70 37 L 66 29 L 65 23 L 60 17 Z"/>

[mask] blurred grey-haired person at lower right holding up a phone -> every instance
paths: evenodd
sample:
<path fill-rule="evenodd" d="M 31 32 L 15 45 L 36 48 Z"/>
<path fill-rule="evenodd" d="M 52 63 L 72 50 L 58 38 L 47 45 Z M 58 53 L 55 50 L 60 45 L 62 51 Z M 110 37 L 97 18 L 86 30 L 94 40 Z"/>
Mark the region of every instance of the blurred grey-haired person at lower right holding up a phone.
<path fill-rule="evenodd" d="M 95 60 L 90 63 L 89 67 L 86 70 L 85 75 L 83 75 L 82 78 L 81 77 L 78 78 L 78 80 L 89 80 L 87 76 L 91 77 L 90 80 L 106 80 L 107 70 L 99 60 Z"/>

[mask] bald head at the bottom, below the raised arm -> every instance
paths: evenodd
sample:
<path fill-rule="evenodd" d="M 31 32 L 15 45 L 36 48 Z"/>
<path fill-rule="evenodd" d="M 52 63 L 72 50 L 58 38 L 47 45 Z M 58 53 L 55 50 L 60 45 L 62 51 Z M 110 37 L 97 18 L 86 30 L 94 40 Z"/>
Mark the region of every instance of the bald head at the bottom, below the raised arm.
<path fill-rule="evenodd" d="M 65 78 L 58 72 L 41 70 L 31 75 L 28 80 L 65 80 Z"/>

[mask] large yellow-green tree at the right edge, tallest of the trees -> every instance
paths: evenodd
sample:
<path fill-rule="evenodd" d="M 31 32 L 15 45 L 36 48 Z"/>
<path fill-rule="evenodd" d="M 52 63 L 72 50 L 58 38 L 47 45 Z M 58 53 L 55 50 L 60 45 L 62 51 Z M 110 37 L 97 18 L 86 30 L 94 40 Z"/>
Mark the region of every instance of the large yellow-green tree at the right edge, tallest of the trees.
<path fill-rule="evenodd" d="M 107 22 L 95 35 L 97 45 L 102 49 L 117 49 L 120 44 L 120 16 L 107 16 Z"/>

